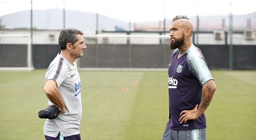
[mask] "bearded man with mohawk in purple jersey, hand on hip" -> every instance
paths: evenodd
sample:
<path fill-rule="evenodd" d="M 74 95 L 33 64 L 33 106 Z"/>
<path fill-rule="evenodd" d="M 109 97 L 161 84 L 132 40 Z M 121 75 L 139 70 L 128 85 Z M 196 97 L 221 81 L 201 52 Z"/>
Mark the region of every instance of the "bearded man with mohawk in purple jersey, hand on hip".
<path fill-rule="evenodd" d="M 170 27 L 168 68 L 169 120 L 163 140 L 206 139 L 204 111 L 216 90 L 201 50 L 192 44 L 193 26 L 187 16 L 176 16 Z"/>

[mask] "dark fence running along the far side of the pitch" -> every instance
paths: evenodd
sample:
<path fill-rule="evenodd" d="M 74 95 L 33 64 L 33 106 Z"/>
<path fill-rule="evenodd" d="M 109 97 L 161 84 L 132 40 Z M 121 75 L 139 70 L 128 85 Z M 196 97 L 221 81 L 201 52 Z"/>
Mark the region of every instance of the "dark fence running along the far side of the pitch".
<path fill-rule="evenodd" d="M 77 60 L 83 68 L 167 68 L 173 50 L 169 49 L 169 38 L 159 36 L 104 36 L 85 38 L 87 49 Z M 229 69 L 230 56 L 233 69 L 256 69 L 256 45 L 202 44 L 199 48 L 204 54 L 210 69 Z M 23 44 L 1 44 L 0 67 L 20 67 L 25 63 L 19 53 L 26 52 Z M 8 51 L 6 51 L 8 50 Z M 60 47 L 57 44 L 34 44 L 32 48 L 34 68 L 47 68 Z M 15 53 L 16 52 L 16 53 Z M 8 60 L 19 60 L 8 63 Z M 23 60 L 22 63 L 20 60 Z M 24 65 L 24 64 L 23 64 Z"/>

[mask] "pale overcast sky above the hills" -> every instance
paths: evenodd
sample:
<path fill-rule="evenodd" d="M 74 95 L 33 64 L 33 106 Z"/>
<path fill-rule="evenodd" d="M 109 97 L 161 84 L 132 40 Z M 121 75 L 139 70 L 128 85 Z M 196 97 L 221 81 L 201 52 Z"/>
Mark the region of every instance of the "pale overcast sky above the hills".
<path fill-rule="evenodd" d="M 65 1 L 65 4 L 64 4 Z M 255 0 L 33 0 L 34 10 L 63 8 L 123 21 L 158 21 L 176 15 L 244 15 L 256 11 Z M 30 10 L 30 0 L 0 0 L 0 16 Z M 197 4 L 198 2 L 198 4 Z M 232 6 L 231 3 L 232 2 Z"/>

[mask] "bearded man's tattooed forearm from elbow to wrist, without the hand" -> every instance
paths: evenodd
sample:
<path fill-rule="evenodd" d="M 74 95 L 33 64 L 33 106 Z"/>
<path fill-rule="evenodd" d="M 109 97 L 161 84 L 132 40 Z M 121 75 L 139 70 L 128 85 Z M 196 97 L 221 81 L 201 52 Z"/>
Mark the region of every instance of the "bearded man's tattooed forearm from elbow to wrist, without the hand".
<path fill-rule="evenodd" d="M 216 86 L 213 80 L 209 80 L 203 85 L 201 102 L 198 108 L 199 114 L 203 114 L 206 108 L 208 108 L 215 90 Z"/>

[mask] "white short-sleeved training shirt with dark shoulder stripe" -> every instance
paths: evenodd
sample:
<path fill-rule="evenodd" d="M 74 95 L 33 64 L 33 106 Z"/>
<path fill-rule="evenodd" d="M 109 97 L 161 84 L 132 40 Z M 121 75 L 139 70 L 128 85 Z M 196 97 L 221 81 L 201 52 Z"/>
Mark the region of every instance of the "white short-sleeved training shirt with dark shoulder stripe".
<path fill-rule="evenodd" d="M 54 80 L 60 96 L 64 101 L 66 113 L 59 114 L 56 119 L 46 119 L 44 123 L 44 135 L 57 137 L 80 134 L 80 120 L 82 117 L 81 80 L 77 70 L 77 64 L 71 64 L 60 54 L 57 54 L 46 72 L 46 80 Z M 48 105 L 51 101 L 48 101 Z"/>

